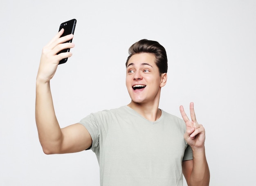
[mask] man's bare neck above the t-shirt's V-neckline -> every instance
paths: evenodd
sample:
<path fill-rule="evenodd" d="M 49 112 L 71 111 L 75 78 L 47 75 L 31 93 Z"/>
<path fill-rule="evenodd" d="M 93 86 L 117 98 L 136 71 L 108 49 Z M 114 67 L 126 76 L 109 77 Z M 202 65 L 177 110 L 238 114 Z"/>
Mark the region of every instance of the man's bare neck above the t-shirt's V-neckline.
<path fill-rule="evenodd" d="M 161 117 L 162 111 L 158 108 L 158 106 L 159 102 L 158 104 L 143 104 L 131 101 L 131 103 L 128 104 L 128 107 L 138 112 L 142 117 L 144 117 L 148 121 L 156 121 Z"/>

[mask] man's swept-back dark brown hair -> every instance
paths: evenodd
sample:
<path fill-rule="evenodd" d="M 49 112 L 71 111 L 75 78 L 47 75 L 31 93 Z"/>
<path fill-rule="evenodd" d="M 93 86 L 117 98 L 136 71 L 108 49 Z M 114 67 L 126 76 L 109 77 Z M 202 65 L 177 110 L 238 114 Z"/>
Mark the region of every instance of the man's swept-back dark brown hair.
<path fill-rule="evenodd" d="M 139 53 L 151 53 L 155 56 L 155 63 L 159 69 L 159 74 L 167 73 L 168 65 L 167 65 L 167 55 L 164 47 L 160 45 L 157 41 L 142 39 L 136 43 L 134 43 L 129 48 L 129 54 L 126 67 L 128 61 L 131 56 Z"/>

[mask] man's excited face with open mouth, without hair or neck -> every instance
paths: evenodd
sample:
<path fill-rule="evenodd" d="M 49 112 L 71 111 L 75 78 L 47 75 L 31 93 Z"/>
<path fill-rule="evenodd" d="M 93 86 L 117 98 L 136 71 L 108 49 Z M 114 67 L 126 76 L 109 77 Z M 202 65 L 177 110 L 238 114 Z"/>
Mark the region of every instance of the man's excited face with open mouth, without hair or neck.
<path fill-rule="evenodd" d="M 165 74 L 166 75 L 166 74 Z M 126 87 L 135 103 L 154 103 L 159 101 L 163 85 L 155 56 L 150 53 L 139 53 L 131 56 L 126 67 Z"/>

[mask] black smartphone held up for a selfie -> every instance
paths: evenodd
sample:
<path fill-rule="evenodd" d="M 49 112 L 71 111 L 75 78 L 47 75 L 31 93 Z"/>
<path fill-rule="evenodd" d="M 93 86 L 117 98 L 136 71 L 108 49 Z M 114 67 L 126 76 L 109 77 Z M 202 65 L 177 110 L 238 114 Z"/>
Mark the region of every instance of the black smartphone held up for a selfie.
<path fill-rule="evenodd" d="M 69 34 L 74 34 L 75 27 L 76 27 L 76 19 L 72 19 L 72 20 L 61 23 L 58 31 L 61 31 L 61 29 L 64 29 L 64 33 L 61 35 L 61 37 L 63 37 L 63 36 L 67 36 Z M 72 42 L 72 39 L 66 41 L 65 43 L 71 43 L 71 42 Z M 60 54 L 62 52 L 70 52 L 70 48 L 63 49 L 60 52 L 58 52 L 57 54 Z M 66 62 L 67 62 L 67 58 L 64 58 L 58 64 L 60 65 L 60 64 L 66 63 Z"/>

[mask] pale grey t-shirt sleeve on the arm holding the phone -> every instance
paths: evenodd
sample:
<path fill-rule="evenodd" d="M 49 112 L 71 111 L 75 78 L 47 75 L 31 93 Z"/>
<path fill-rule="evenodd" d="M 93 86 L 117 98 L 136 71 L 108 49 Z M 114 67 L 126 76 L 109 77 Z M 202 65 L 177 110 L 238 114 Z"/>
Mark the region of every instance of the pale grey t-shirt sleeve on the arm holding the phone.
<path fill-rule="evenodd" d="M 94 114 L 90 114 L 87 117 L 81 119 L 78 123 L 85 126 L 92 137 L 92 147 L 97 148 L 99 146 L 99 126 L 94 117 Z"/>

